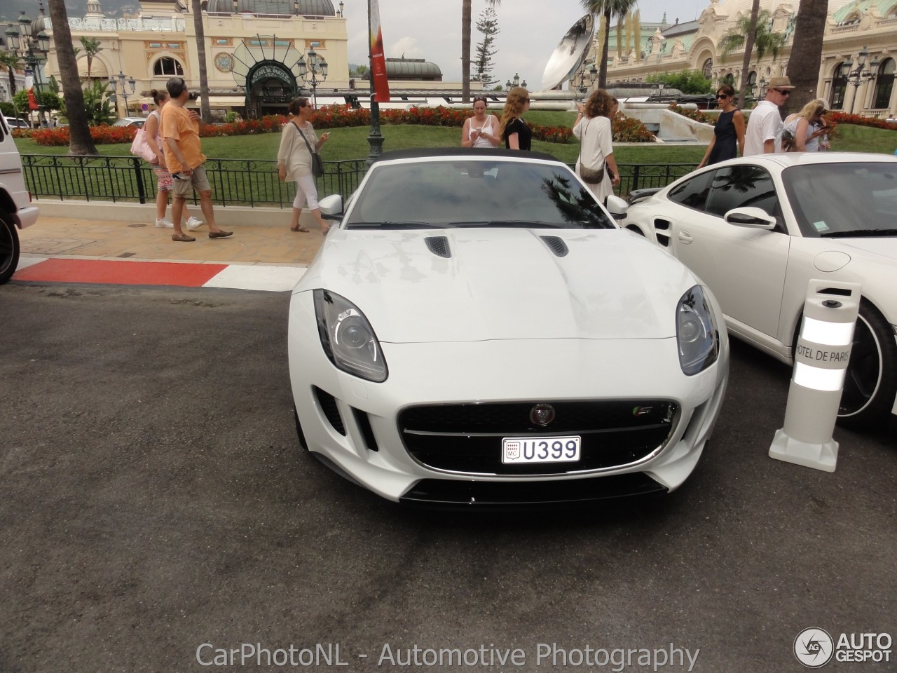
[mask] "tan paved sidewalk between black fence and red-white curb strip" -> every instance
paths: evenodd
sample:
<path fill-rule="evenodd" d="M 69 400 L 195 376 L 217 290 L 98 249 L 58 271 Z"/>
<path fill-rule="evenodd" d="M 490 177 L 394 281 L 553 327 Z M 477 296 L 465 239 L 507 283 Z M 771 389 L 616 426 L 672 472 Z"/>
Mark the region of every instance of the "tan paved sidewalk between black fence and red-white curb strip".
<path fill-rule="evenodd" d="M 215 208 L 218 226 L 233 236 L 211 240 L 203 224 L 190 232 L 195 241 L 180 243 L 171 240 L 172 230 L 155 226 L 154 205 L 37 205 L 38 222 L 19 232 L 22 262 L 39 257 L 306 267 L 324 240 L 306 213 L 302 224 L 311 232 L 291 232 L 286 209 Z M 196 206 L 190 207 L 190 214 L 204 219 Z"/>

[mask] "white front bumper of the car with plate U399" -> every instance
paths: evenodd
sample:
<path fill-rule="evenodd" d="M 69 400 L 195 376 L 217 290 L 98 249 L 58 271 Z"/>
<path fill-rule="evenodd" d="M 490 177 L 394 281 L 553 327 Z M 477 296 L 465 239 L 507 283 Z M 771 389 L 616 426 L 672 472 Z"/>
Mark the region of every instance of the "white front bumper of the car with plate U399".
<path fill-rule="evenodd" d="M 372 383 L 330 363 L 310 293 L 299 293 L 292 297 L 288 341 L 306 442 L 332 467 L 393 501 L 509 504 L 581 502 L 681 485 L 701 457 L 725 391 L 728 344 L 721 337 L 718 361 L 693 377 L 679 367 L 675 337 L 384 343 L 389 378 Z M 670 400 L 678 410 L 658 450 L 624 464 L 553 474 L 432 468 L 405 449 L 397 423 L 412 406 L 644 398 Z"/>

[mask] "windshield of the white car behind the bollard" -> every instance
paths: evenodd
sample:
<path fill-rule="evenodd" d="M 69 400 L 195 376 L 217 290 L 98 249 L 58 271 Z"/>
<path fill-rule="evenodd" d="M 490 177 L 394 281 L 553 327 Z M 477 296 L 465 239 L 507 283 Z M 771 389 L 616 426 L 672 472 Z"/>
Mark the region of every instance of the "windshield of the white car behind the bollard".
<path fill-rule="evenodd" d="M 897 163 L 814 163 L 782 171 L 807 238 L 897 235 Z"/>

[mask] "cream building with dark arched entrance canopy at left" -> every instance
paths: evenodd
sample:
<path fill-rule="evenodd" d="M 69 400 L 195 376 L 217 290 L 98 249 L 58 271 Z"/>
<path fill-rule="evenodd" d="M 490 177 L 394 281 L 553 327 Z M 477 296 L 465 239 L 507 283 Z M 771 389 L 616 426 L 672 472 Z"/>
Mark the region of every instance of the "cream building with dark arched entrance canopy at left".
<path fill-rule="evenodd" d="M 82 37 L 100 43 L 89 74 L 84 50 L 78 54 L 83 78 L 118 79 L 121 73 L 135 80 L 134 92 L 126 88 L 127 110 L 118 96 L 120 116 L 139 116 L 143 104 L 152 107 L 149 92 L 164 89 L 174 75 L 199 91 L 196 29 L 189 5 L 189 0 L 144 0 L 136 16 L 108 18 L 100 0 L 89 0 L 83 17 L 69 17 L 75 47 Z M 299 66 L 300 59 L 308 62 L 309 51 L 318 66 L 327 64 L 327 74 L 319 67 L 316 76 L 318 96 L 352 93 L 344 3 L 335 7 L 330 0 L 203 0 L 202 6 L 213 117 L 222 118 L 228 110 L 243 118 L 284 113 L 296 96 L 310 96 L 310 76 L 303 82 Z M 45 22 L 41 27 L 51 38 L 44 74 L 58 79 L 52 25 L 48 17 L 37 21 Z"/>

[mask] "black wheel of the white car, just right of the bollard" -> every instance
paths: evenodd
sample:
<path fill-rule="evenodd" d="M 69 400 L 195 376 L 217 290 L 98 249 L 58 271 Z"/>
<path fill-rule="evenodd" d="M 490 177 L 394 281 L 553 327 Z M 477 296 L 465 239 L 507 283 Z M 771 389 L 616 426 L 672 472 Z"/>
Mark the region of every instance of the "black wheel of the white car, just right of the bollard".
<path fill-rule="evenodd" d="M 838 420 L 850 427 L 884 424 L 897 395 L 897 343 L 881 312 L 863 300 L 853 333 Z"/>

